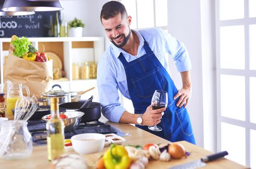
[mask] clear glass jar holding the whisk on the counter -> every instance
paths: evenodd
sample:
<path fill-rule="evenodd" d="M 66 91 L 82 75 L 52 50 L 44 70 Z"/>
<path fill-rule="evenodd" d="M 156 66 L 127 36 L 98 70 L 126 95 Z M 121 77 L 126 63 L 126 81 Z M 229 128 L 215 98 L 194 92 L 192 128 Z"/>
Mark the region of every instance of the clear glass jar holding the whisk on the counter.
<path fill-rule="evenodd" d="M 32 154 L 32 137 L 28 132 L 28 122 L 9 120 L 1 123 L 0 158 L 15 160 Z"/>

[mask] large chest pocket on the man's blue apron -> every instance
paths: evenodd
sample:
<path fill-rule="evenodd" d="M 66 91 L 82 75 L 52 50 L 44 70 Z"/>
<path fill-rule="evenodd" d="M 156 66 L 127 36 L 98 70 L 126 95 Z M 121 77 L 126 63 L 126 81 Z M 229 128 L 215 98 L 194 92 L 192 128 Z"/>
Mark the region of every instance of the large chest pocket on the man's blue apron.
<path fill-rule="evenodd" d="M 140 98 L 146 99 L 153 96 L 155 90 L 164 90 L 165 79 L 159 67 L 131 79 Z"/>

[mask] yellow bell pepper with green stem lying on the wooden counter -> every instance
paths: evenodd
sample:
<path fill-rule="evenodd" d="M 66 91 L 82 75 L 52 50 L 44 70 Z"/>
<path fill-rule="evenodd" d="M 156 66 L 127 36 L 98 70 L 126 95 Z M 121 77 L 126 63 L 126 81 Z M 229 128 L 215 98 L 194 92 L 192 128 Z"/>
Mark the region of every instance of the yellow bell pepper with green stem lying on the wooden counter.
<path fill-rule="evenodd" d="M 124 146 L 111 144 L 103 155 L 106 169 L 128 169 L 131 159 Z"/>

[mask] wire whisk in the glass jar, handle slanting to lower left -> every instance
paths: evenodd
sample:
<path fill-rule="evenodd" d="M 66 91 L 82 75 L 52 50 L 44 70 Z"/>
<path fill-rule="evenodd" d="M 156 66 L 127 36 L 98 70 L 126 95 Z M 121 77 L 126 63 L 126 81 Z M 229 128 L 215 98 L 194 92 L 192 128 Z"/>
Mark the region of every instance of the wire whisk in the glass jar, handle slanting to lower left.
<path fill-rule="evenodd" d="M 16 101 L 14 110 L 14 125 L 18 120 L 28 121 L 38 108 L 38 100 L 33 95 L 31 98 L 20 98 Z M 6 149 L 10 145 L 15 136 L 16 130 L 14 127 L 8 132 L 5 141 L 0 147 L 0 156 L 6 154 Z"/>

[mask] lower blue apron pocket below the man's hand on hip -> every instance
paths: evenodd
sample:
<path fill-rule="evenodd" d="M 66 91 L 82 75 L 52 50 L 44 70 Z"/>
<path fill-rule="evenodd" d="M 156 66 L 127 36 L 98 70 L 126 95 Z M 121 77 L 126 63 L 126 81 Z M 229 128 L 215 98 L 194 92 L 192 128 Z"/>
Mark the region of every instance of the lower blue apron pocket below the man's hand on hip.
<path fill-rule="evenodd" d="M 193 134 L 193 130 L 190 124 L 189 115 L 187 113 L 186 108 L 182 106 L 180 109 L 177 109 L 175 111 L 175 114 L 181 125 L 182 133 L 187 136 L 191 136 Z"/>

